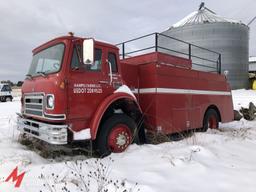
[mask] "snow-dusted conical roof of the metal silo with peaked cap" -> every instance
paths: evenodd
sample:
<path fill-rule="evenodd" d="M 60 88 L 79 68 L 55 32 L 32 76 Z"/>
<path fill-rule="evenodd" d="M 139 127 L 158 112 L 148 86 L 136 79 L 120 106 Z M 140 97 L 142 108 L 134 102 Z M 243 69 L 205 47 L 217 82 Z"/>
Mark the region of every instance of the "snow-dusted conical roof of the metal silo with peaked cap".
<path fill-rule="evenodd" d="M 179 22 L 175 23 L 170 28 L 177 28 L 177 27 L 183 27 L 183 26 L 195 25 L 195 24 L 217 23 L 217 22 L 242 24 L 241 21 L 236 21 L 233 19 L 228 19 L 220 15 L 217 15 L 215 12 L 205 7 L 204 4 L 201 4 L 197 11 L 190 13 L 188 16 L 186 16 Z"/>

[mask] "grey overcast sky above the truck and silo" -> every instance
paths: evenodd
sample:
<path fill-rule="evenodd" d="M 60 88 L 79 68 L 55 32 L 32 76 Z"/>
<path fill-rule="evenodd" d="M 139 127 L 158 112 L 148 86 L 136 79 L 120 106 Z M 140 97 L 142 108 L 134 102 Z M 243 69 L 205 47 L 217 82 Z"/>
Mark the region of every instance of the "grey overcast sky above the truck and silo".
<path fill-rule="evenodd" d="M 1 0 L 0 80 L 23 80 L 38 45 L 72 31 L 118 43 L 161 32 L 198 9 L 201 0 Z M 205 0 L 219 15 L 248 23 L 255 0 Z M 250 29 L 256 56 L 256 21 Z"/>

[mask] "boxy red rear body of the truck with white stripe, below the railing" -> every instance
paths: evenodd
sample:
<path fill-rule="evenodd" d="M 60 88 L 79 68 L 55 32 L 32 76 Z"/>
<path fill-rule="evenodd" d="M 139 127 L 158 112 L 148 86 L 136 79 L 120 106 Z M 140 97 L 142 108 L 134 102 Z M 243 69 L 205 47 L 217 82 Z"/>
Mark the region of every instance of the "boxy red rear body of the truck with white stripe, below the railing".
<path fill-rule="evenodd" d="M 139 101 L 147 130 L 171 134 L 232 121 L 225 76 L 192 70 L 191 60 L 160 52 L 121 62 L 122 77 Z"/>

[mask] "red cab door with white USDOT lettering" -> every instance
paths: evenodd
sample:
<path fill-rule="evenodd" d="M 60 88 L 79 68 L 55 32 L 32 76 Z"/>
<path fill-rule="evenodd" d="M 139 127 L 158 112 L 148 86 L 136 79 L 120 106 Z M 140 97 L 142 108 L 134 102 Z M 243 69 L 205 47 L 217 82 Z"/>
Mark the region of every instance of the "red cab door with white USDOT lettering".
<path fill-rule="evenodd" d="M 87 128 L 91 116 L 113 88 L 106 73 L 105 51 L 95 45 L 93 65 L 82 64 L 81 53 L 81 46 L 74 45 L 68 75 L 68 117 L 80 124 L 76 127 Z"/>

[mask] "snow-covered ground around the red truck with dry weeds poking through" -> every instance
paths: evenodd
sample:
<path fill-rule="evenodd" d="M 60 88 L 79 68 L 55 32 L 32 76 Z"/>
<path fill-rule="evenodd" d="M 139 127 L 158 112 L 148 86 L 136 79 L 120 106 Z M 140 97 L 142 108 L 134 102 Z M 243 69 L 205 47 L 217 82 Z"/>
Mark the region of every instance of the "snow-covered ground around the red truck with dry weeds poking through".
<path fill-rule="evenodd" d="M 248 107 L 256 91 L 233 91 L 233 101 L 235 109 Z M 256 121 L 221 124 L 179 142 L 131 145 L 101 160 L 60 162 L 17 142 L 19 110 L 18 98 L 0 103 L 0 191 L 256 191 Z M 19 188 L 4 182 L 16 166 L 26 172 Z"/>

